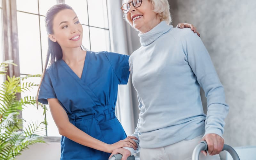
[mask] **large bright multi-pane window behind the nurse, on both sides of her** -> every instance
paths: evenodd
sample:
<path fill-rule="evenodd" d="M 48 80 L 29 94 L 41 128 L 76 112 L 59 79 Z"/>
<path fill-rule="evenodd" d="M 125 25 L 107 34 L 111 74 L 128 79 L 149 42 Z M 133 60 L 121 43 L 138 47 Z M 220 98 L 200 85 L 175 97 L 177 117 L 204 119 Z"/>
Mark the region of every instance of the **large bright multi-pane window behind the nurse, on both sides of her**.
<path fill-rule="evenodd" d="M 82 42 L 85 48 L 92 51 L 110 51 L 106 0 L 16 0 L 21 76 L 42 73 L 48 38 L 44 16 L 47 10 L 58 2 L 70 5 L 76 12 L 84 30 Z M 39 83 L 40 78 L 36 77 L 29 81 Z M 27 95 L 35 96 L 36 88 L 32 92 L 22 93 L 21 97 Z M 42 115 L 43 111 L 38 112 L 34 107 L 28 107 L 22 112 L 27 122 L 41 122 Z M 46 112 L 46 119 L 47 131 L 43 134 L 60 136 L 50 109 Z"/>

